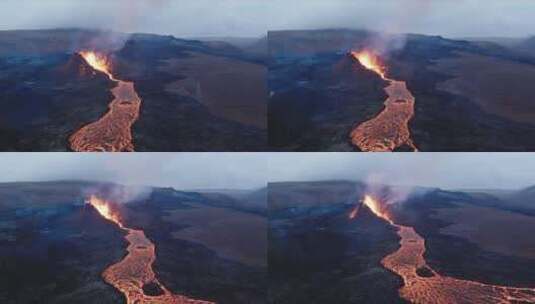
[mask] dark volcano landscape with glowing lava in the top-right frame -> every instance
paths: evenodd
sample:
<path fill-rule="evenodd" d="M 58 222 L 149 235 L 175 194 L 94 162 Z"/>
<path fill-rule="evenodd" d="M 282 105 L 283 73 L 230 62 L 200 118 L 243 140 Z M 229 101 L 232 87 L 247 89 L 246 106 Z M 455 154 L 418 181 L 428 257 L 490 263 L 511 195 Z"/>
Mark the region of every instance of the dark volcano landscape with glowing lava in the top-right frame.
<path fill-rule="evenodd" d="M 520 47 L 336 29 L 268 45 L 276 150 L 535 151 L 535 57 Z"/>

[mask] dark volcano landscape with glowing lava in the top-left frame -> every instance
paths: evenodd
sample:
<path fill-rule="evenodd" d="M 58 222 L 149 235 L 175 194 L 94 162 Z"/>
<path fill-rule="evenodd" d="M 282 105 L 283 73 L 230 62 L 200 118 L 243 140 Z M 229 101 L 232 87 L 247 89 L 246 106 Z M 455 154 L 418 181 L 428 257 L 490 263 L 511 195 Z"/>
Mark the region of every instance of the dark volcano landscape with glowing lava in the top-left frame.
<path fill-rule="evenodd" d="M 263 56 L 171 36 L 4 31 L 0 150 L 266 150 Z"/>

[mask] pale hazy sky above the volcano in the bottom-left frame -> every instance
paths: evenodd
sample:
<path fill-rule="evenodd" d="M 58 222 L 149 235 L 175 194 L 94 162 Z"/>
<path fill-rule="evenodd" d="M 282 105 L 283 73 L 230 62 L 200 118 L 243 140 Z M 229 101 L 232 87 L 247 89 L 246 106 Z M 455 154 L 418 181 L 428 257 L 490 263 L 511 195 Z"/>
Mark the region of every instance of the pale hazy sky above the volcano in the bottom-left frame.
<path fill-rule="evenodd" d="M 253 189 L 266 162 L 251 153 L 0 153 L 0 182 L 94 180 L 176 189 Z"/>

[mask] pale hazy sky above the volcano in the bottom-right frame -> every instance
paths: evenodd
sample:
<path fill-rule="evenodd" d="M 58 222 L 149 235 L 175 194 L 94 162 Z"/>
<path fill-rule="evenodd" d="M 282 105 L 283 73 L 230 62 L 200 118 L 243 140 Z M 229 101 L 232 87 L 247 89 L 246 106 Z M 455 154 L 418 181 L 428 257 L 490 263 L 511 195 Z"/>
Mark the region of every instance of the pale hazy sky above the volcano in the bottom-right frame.
<path fill-rule="evenodd" d="M 271 181 L 349 179 L 446 189 L 535 185 L 532 153 L 284 153 L 269 162 Z"/>

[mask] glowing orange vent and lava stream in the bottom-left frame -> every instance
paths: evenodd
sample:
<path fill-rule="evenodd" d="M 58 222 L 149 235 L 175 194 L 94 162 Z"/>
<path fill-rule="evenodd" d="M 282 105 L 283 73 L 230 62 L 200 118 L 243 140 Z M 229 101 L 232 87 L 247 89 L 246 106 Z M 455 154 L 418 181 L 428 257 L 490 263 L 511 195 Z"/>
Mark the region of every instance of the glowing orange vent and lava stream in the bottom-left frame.
<path fill-rule="evenodd" d="M 152 264 L 156 259 L 156 248 L 142 230 L 123 226 L 119 212 L 114 204 L 92 195 L 87 204 L 93 206 L 102 217 L 117 224 L 127 232 L 129 242 L 128 254 L 120 262 L 109 266 L 102 274 L 104 280 L 114 286 L 126 297 L 127 304 L 213 304 L 213 302 L 194 300 L 173 294 L 156 278 Z M 151 284 L 160 292 L 159 295 L 146 295 L 143 287 Z"/>

